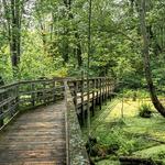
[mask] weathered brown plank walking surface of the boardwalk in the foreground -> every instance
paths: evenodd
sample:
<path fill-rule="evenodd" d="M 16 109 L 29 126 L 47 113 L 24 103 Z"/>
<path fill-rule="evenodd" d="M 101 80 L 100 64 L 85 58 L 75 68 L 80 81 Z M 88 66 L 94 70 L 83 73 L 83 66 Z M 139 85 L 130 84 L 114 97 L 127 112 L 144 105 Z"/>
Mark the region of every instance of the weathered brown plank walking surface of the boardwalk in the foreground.
<path fill-rule="evenodd" d="M 0 134 L 0 165 L 63 165 L 65 101 L 30 110 Z"/>

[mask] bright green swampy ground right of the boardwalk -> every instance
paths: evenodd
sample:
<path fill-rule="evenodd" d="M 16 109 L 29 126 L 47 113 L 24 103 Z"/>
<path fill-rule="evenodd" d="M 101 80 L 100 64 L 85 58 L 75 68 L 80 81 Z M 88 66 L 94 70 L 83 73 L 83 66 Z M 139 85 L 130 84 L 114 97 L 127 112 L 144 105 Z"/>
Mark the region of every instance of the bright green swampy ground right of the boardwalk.
<path fill-rule="evenodd" d="M 116 98 L 96 112 L 91 135 L 97 143 L 91 144 L 90 151 L 95 164 L 119 165 L 121 156 L 161 160 L 165 164 L 165 120 L 153 107 L 151 118 L 141 118 L 142 102 L 151 105 L 150 99 L 124 99 L 122 103 L 122 99 Z"/>

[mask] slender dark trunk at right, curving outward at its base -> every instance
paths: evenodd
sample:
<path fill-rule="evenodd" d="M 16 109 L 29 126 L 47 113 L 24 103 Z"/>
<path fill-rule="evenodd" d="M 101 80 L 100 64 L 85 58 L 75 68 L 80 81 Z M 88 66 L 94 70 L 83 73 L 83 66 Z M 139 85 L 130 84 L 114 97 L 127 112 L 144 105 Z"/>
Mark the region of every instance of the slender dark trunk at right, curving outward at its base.
<path fill-rule="evenodd" d="M 148 46 L 148 35 L 146 30 L 146 21 L 145 21 L 145 0 L 140 0 L 140 23 L 141 23 L 141 33 L 143 40 L 143 59 L 144 59 L 144 70 L 145 70 L 145 78 L 148 86 L 150 95 L 152 102 L 155 109 L 165 117 L 165 108 L 160 102 L 156 90 L 152 80 L 152 70 L 150 65 L 150 46 Z"/>

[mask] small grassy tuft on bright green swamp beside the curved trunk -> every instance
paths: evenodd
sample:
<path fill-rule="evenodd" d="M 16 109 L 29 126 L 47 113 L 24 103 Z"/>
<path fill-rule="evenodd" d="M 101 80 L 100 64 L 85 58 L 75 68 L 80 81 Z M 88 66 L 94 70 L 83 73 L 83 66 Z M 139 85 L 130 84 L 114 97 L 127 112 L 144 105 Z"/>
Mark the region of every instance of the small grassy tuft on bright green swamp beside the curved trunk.
<path fill-rule="evenodd" d="M 150 105 L 146 105 L 146 103 L 143 103 L 140 108 L 139 108 L 139 111 L 140 111 L 140 117 L 142 118 L 151 118 L 152 116 L 152 109 L 151 109 L 151 106 Z"/>

